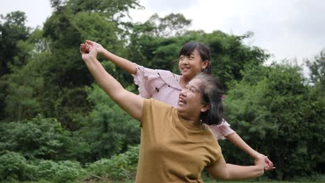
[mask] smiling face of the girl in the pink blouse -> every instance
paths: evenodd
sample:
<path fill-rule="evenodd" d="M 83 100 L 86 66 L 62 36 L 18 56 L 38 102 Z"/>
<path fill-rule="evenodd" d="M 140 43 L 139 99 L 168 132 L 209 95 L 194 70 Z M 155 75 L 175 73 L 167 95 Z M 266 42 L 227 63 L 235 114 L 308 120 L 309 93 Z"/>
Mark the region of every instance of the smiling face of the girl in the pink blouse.
<path fill-rule="evenodd" d="M 208 66 L 208 61 L 201 59 L 199 51 L 195 49 L 190 55 L 181 55 L 178 62 L 178 68 L 182 76 L 188 80 L 192 80 L 203 69 Z"/>

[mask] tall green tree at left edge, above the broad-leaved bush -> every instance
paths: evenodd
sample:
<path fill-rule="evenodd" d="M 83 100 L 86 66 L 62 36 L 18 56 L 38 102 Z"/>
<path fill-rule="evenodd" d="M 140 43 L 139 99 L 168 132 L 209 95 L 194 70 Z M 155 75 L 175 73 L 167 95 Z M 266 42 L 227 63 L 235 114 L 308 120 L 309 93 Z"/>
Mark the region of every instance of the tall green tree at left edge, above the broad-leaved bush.
<path fill-rule="evenodd" d="M 0 87 L 3 93 L 3 120 L 21 121 L 31 119 L 36 114 L 43 114 L 42 93 L 44 92 L 44 60 L 49 53 L 47 42 L 42 39 L 42 30 L 36 29 L 28 40 L 20 40 L 15 55 L 15 62 L 24 60 L 25 64 L 12 64 L 11 73 L 3 76 Z"/>

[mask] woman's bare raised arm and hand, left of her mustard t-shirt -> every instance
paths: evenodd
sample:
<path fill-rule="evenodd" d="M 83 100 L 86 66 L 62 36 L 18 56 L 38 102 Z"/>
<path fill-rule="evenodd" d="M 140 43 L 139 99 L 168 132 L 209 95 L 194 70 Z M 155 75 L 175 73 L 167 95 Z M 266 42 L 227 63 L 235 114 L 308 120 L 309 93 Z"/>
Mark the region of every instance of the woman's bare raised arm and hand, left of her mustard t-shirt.
<path fill-rule="evenodd" d="M 113 76 L 110 76 L 97 60 L 96 49 L 91 49 L 88 53 L 87 45 L 81 44 L 80 51 L 85 64 L 101 89 L 103 89 L 122 110 L 130 114 L 134 119 L 140 121 L 144 99 L 141 96 L 128 92 L 117 80 L 115 80 L 115 78 L 113 78 Z"/>

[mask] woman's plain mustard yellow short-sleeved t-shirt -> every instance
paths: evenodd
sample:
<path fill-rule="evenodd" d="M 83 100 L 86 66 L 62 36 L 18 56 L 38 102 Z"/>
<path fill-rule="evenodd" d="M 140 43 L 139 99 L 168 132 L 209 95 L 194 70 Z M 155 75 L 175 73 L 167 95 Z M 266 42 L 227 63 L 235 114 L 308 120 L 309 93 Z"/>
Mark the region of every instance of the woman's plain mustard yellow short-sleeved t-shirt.
<path fill-rule="evenodd" d="M 160 101 L 144 99 L 140 126 L 135 182 L 203 182 L 203 168 L 222 157 L 217 139 L 206 125 L 192 125 Z"/>

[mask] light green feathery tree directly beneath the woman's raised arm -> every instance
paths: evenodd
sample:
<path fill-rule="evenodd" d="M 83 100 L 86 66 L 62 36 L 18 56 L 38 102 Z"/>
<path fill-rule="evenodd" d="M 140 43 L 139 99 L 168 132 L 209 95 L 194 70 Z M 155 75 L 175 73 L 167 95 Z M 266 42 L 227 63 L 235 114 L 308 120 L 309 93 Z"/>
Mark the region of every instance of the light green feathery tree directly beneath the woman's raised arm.
<path fill-rule="evenodd" d="M 91 146 L 89 161 L 108 158 L 140 143 L 138 121 L 121 110 L 98 85 L 92 85 L 88 92 L 94 107 L 89 116 L 81 119 L 83 128 L 78 135 Z"/>

